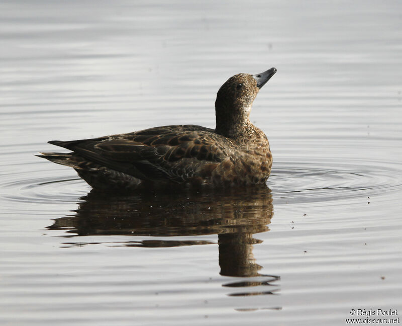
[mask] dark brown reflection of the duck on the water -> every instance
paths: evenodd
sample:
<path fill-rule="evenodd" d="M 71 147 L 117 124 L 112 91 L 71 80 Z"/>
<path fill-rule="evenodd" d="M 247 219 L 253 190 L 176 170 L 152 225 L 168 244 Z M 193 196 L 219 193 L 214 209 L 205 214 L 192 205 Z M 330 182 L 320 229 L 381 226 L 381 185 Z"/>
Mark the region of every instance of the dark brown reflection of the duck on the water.
<path fill-rule="evenodd" d="M 56 219 L 48 228 L 67 230 L 66 232 L 74 233 L 71 236 L 166 237 L 218 234 L 221 275 L 261 276 L 261 266 L 255 261 L 253 245 L 262 241 L 255 239 L 253 234 L 269 230 L 267 225 L 272 218 L 273 208 L 272 196 L 267 187 L 236 192 L 176 191 L 135 195 L 111 195 L 92 190 L 81 199 L 83 202 L 79 203 L 74 214 Z M 123 245 L 175 247 L 210 243 L 213 242 L 153 239 L 128 241 Z M 82 245 L 82 242 L 65 244 L 74 246 Z M 261 285 L 264 282 L 258 283 Z M 240 283 L 226 286 L 244 286 L 238 285 Z"/>

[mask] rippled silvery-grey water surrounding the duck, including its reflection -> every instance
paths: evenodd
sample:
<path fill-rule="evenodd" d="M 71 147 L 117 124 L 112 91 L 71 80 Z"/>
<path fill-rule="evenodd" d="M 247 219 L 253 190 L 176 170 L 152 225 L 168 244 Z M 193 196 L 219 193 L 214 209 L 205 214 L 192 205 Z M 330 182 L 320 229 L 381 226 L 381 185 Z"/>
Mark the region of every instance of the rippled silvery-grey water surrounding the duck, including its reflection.
<path fill-rule="evenodd" d="M 0 321 L 344 324 L 402 299 L 397 1 L 0 4 Z M 53 139 L 214 127 L 239 72 L 267 188 L 105 196 Z"/>

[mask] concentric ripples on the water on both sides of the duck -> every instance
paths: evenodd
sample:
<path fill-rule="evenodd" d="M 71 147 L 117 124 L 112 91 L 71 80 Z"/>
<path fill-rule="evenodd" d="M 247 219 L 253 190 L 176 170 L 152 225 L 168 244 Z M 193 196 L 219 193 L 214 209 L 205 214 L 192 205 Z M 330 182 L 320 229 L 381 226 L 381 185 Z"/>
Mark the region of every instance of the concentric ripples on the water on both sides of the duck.
<path fill-rule="evenodd" d="M 17 202 L 72 203 L 90 190 L 73 174 L 37 170 L 9 175 L 1 186 L 3 197 Z M 383 161 L 274 162 L 268 187 L 274 199 L 322 202 L 386 194 L 402 189 L 401 165 Z"/>

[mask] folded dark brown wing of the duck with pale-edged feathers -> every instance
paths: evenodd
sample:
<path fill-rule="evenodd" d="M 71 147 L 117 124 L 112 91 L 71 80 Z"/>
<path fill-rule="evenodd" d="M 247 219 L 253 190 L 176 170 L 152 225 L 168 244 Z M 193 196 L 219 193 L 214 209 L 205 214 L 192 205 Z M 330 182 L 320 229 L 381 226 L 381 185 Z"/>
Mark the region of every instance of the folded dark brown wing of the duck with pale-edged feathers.
<path fill-rule="evenodd" d="M 49 141 L 100 166 L 142 180 L 206 178 L 228 157 L 232 142 L 213 129 L 174 125 L 73 141 Z"/>

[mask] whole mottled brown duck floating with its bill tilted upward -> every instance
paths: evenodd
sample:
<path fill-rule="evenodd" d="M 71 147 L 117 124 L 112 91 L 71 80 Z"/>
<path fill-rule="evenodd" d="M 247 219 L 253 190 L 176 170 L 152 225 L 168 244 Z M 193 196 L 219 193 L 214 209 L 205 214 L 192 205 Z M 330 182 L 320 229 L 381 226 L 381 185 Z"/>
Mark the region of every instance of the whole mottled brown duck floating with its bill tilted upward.
<path fill-rule="evenodd" d="M 72 167 L 97 189 L 264 184 L 271 172 L 271 151 L 267 136 L 249 116 L 257 93 L 275 72 L 271 68 L 229 78 L 217 94 L 215 130 L 172 125 L 92 139 L 52 140 L 49 143 L 72 152 L 38 156 Z"/>

